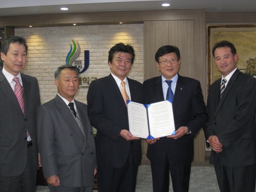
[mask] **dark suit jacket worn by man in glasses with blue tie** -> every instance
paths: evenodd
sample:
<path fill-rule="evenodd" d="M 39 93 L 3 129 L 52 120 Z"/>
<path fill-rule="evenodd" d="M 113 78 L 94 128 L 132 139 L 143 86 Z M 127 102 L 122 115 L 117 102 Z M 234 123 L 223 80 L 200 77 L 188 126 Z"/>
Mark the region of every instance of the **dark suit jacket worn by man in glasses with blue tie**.
<path fill-rule="evenodd" d="M 146 104 L 164 100 L 162 76 L 143 83 L 143 97 Z M 147 157 L 152 163 L 161 164 L 166 161 L 167 154 L 173 165 L 189 164 L 193 161 L 194 137 L 208 119 L 199 81 L 179 75 L 172 105 L 175 129 L 187 126 L 192 134 L 179 139 L 160 138 L 148 145 Z"/>

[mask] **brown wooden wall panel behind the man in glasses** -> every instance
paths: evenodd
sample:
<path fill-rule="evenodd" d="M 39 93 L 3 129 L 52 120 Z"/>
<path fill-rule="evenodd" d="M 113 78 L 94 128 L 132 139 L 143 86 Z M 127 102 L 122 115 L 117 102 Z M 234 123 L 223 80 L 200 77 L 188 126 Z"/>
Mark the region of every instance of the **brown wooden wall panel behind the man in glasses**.
<path fill-rule="evenodd" d="M 180 18 L 177 14 L 171 17 L 172 13 L 170 13 L 170 17 L 167 19 L 168 24 L 164 19 L 144 21 L 144 77 L 148 79 L 160 75 L 156 66 L 153 65 L 153 61 L 151 61 L 154 59 L 157 49 L 166 44 L 176 45 L 181 52 L 181 69 L 179 73 L 200 81 L 205 97 L 205 13 L 204 11 L 190 11 L 187 13 L 186 16 L 184 13 L 180 13 Z M 166 29 L 166 26 L 168 26 L 168 29 Z M 168 34 L 166 34 L 166 31 Z M 144 143 L 143 153 L 146 153 L 146 148 L 147 146 Z M 194 161 L 204 162 L 205 139 L 202 130 L 197 134 L 194 149 Z"/>

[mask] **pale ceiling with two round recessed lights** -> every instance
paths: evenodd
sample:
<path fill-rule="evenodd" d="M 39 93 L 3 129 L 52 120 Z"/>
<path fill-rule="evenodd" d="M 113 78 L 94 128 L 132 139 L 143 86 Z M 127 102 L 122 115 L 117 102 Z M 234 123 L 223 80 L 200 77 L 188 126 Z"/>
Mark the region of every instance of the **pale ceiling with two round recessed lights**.
<path fill-rule="evenodd" d="M 162 3 L 171 6 L 163 7 Z M 60 11 L 66 6 L 68 11 Z M 256 0 L 0 0 L 0 16 L 123 10 L 205 9 L 206 12 L 256 11 Z"/>

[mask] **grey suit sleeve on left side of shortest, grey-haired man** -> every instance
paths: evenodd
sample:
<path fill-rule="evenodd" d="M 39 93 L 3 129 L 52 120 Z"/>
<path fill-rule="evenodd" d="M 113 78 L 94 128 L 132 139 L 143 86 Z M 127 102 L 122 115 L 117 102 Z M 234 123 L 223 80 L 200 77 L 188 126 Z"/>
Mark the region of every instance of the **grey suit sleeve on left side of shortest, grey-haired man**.
<path fill-rule="evenodd" d="M 37 113 L 37 142 L 41 156 L 44 177 L 59 173 L 54 153 L 54 124 L 49 110 L 43 105 Z"/>

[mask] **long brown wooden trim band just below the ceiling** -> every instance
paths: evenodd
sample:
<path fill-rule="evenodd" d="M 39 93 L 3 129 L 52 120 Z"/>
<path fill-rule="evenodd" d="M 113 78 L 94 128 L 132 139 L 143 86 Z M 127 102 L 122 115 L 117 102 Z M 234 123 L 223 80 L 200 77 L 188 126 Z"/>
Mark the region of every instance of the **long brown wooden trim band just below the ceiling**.
<path fill-rule="evenodd" d="M 144 10 L 144 11 L 109 11 L 85 13 L 59 13 L 15 15 L 0 17 L 0 26 L 14 28 L 53 27 L 76 25 L 108 25 L 123 23 L 143 23 L 157 20 L 187 20 L 200 15 L 202 9 L 189 10 Z"/>

